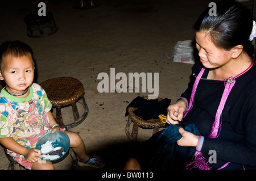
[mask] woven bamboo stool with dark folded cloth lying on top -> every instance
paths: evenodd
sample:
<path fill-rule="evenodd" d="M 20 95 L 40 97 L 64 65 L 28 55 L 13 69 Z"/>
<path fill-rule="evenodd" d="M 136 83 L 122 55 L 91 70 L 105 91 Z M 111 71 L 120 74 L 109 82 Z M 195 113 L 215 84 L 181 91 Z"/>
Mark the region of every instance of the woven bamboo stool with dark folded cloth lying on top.
<path fill-rule="evenodd" d="M 148 99 L 146 96 L 143 97 L 144 99 Z M 162 100 L 162 98 L 158 98 L 158 101 Z M 133 111 L 135 111 L 137 107 L 128 107 L 128 120 L 125 128 L 126 136 L 129 138 L 130 141 L 137 141 L 138 137 L 138 128 L 141 127 L 143 129 L 153 129 L 153 133 L 155 134 L 159 131 L 159 128 L 165 126 L 165 124 L 161 121 L 161 119 L 150 119 L 150 120 L 143 120 L 141 117 L 135 115 Z M 133 129 L 130 133 L 130 125 L 133 123 Z"/>

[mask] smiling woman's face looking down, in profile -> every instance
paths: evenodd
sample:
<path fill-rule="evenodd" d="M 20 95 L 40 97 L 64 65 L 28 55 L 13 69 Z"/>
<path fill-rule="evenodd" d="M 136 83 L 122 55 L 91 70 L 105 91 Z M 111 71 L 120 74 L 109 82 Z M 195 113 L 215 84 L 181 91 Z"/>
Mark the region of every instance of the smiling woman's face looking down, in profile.
<path fill-rule="evenodd" d="M 196 32 L 196 48 L 202 64 L 209 69 L 219 68 L 232 60 L 232 50 L 224 50 L 216 47 L 205 32 Z"/>

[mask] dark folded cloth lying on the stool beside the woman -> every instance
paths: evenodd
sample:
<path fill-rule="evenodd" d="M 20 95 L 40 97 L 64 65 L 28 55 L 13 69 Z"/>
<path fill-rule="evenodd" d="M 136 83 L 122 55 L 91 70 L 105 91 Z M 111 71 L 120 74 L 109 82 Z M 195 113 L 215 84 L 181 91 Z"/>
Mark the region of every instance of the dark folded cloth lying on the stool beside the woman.
<path fill-rule="evenodd" d="M 158 119 L 159 115 L 167 115 L 167 107 L 170 105 L 171 99 L 144 99 L 141 96 L 135 98 L 126 108 L 125 116 L 128 115 L 128 107 L 138 107 L 134 113 L 143 120 Z"/>

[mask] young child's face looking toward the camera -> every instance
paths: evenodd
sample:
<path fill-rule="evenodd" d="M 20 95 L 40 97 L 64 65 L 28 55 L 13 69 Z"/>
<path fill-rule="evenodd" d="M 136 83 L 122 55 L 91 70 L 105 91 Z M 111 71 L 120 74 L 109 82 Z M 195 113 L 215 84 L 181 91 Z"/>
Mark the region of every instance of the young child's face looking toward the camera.
<path fill-rule="evenodd" d="M 7 56 L 2 61 L 0 79 L 5 80 L 10 92 L 19 94 L 32 84 L 34 69 L 30 56 Z"/>

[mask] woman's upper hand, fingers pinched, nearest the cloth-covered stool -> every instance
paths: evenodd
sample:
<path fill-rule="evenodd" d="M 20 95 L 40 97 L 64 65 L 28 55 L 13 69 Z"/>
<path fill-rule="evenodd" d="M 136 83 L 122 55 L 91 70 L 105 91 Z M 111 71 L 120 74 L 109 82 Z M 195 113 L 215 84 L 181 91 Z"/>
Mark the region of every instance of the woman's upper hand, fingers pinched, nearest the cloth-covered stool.
<path fill-rule="evenodd" d="M 167 108 L 166 123 L 168 124 L 178 124 L 183 118 L 183 113 L 185 112 L 187 103 L 183 99 L 179 99 L 176 103 L 170 105 Z"/>

